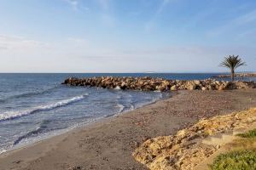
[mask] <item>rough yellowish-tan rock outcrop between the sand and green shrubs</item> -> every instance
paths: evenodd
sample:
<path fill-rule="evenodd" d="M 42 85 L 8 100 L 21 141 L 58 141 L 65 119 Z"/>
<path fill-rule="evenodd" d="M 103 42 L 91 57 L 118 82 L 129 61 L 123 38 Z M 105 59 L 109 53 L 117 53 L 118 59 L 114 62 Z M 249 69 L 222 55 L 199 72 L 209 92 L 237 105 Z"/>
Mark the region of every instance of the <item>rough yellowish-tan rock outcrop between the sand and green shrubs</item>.
<path fill-rule="evenodd" d="M 220 148 L 218 144 L 205 144 L 203 141 L 207 137 L 249 127 L 254 122 L 256 108 L 214 116 L 175 135 L 148 139 L 134 151 L 133 156 L 151 170 L 192 170 Z"/>

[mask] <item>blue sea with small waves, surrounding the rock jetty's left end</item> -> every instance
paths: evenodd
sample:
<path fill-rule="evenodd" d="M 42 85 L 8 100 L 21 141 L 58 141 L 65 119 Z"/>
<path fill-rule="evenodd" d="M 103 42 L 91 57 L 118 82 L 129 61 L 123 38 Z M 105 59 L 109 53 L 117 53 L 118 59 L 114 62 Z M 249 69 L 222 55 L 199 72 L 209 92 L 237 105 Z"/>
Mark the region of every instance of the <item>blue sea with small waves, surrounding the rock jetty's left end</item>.
<path fill-rule="evenodd" d="M 206 79 L 217 74 L 0 74 L 0 152 L 147 105 L 160 92 L 67 87 L 67 77 Z"/>

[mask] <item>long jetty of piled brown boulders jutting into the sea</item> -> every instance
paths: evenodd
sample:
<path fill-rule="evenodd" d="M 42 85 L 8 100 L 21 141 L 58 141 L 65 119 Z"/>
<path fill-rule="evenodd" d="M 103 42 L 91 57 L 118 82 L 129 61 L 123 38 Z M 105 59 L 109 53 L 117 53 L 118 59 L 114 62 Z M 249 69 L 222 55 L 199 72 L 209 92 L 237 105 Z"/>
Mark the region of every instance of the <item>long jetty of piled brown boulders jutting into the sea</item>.
<path fill-rule="evenodd" d="M 89 77 L 67 78 L 62 84 L 70 86 L 89 86 L 99 88 L 119 88 L 142 91 L 176 91 L 176 90 L 229 90 L 256 88 L 255 82 L 226 82 L 207 80 L 166 80 L 152 77 Z"/>

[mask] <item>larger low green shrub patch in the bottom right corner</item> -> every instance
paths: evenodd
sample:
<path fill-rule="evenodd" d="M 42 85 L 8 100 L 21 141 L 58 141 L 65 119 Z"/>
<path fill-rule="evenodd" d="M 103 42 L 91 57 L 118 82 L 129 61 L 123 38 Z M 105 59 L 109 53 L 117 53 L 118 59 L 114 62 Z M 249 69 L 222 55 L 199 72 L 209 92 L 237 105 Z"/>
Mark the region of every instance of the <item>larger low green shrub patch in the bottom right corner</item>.
<path fill-rule="evenodd" d="M 238 150 L 221 154 L 210 167 L 212 170 L 255 170 L 256 151 Z"/>

